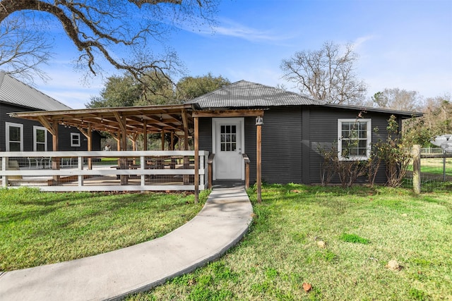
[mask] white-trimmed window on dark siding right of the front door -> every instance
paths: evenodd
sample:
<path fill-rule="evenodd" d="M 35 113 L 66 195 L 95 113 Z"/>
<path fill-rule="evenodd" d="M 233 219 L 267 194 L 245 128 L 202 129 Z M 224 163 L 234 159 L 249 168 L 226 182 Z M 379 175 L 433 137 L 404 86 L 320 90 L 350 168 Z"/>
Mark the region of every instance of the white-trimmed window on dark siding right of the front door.
<path fill-rule="evenodd" d="M 367 160 L 371 151 L 371 119 L 338 119 L 340 160 Z"/>

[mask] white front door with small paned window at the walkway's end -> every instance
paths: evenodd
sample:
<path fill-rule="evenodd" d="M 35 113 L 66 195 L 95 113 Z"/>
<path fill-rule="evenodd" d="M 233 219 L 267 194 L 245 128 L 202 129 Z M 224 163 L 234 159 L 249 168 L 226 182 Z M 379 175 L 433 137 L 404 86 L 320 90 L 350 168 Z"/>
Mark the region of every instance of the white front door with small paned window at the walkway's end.
<path fill-rule="evenodd" d="M 244 118 L 213 118 L 214 180 L 244 180 Z"/>

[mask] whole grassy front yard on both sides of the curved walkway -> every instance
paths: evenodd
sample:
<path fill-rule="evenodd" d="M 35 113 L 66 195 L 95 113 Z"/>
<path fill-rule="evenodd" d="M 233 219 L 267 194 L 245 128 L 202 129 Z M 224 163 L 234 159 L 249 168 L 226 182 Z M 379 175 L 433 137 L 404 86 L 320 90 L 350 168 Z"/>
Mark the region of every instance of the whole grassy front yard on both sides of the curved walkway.
<path fill-rule="evenodd" d="M 236 247 L 128 300 L 452 299 L 450 192 L 292 184 L 264 185 L 262 204 L 249 195 L 254 221 Z M 0 269 L 150 240 L 201 204 L 180 194 L 0 190 Z"/>

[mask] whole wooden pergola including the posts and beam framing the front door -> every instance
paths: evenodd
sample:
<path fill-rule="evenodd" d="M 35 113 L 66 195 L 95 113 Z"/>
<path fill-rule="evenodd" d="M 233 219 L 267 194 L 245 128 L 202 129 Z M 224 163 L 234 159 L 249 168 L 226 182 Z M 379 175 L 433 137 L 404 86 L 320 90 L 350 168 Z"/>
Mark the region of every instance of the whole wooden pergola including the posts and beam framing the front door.
<path fill-rule="evenodd" d="M 108 132 L 117 140 L 118 150 L 127 150 L 127 139 L 136 141 L 138 135 L 160 133 L 162 147 L 165 133 L 184 137 L 184 150 L 189 149 L 188 140 L 194 137 L 195 199 L 198 200 L 198 118 L 202 117 L 258 117 L 262 109 L 212 109 L 199 111 L 197 104 L 174 104 L 164 106 L 126 106 L 98 109 L 71 109 L 64 111 L 28 111 L 9 113 L 11 117 L 40 122 L 52 134 L 53 151 L 59 151 L 59 125 L 77 128 L 88 140 L 88 151 L 92 150 L 93 131 Z M 143 135 L 144 149 L 148 150 L 148 135 Z M 172 139 L 173 140 L 173 139 Z M 133 143 L 135 145 L 135 143 Z M 257 185 L 258 200 L 261 200 L 261 126 L 257 126 Z M 171 147 L 170 147 L 171 148 Z M 136 149 L 133 149 L 136 150 Z M 170 149 L 174 150 L 174 149 Z M 52 163 L 58 169 L 58 162 Z M 88 161 L 88 168 L 90 168 Z M 122 183 L 122 177 L 121 177 Z"/>

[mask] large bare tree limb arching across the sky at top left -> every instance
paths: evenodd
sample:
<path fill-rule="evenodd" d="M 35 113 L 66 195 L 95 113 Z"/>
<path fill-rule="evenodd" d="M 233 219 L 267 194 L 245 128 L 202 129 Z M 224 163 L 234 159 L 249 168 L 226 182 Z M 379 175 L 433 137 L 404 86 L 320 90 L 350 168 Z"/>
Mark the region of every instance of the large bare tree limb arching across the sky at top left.
<path fill-rule="evenodd" d="M 217 7 L 218 0 L 0 0 L 0 25 L 24 13 L 57 20 L 80 53 L 76 66 L 96 75 L 106 60 L 139 79 L 180 70 L 165 38 L 176 26 L 213 25 Z M 26 20 L 32 30 L 33 18 Z"/>

